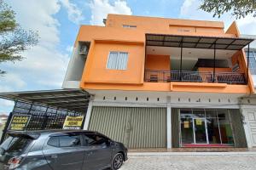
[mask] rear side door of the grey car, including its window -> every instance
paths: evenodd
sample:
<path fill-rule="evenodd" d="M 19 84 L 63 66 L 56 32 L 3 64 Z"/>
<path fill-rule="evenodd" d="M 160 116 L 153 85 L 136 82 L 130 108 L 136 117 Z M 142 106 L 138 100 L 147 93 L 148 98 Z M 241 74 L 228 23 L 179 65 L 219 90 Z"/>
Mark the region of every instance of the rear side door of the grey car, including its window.
<path fill-rule="evenodd" d="M 79 133 L 51 136 L 43 152 L 54 170 L 80 170 L 83 166 L 85 151 Z"/>

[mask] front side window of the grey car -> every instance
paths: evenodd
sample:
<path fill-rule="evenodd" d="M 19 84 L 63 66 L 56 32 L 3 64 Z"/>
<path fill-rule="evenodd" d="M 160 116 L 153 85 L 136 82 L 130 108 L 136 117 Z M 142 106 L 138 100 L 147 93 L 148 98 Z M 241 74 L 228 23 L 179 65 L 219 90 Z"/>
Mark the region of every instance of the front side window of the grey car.
<path fill-rule="evenodd" d="M 85 144 L 86 145 L 108 145 L 109 140 L 98 134 L 84 134 Z"/>

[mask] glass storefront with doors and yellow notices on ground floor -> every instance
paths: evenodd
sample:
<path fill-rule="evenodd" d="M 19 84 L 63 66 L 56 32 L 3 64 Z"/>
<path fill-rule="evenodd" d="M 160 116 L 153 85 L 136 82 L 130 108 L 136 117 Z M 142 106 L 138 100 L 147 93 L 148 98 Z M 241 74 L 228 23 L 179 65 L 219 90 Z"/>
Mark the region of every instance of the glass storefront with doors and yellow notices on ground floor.
<path fill-rule="evenodd" d="M 182 144 L 234 144 L 228 110 L 180 110 Z"/>

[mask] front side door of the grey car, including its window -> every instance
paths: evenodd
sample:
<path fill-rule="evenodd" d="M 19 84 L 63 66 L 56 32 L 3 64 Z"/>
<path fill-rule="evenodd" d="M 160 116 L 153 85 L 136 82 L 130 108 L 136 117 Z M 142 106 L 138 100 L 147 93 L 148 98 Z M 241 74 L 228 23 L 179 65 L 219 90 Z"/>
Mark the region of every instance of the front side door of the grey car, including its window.
<path fill-rule="evenodd" d="M 109 139 L 98 133 L 84 133 L 84 170 L 98 170 L 111 165 L 112 147 Z"/>

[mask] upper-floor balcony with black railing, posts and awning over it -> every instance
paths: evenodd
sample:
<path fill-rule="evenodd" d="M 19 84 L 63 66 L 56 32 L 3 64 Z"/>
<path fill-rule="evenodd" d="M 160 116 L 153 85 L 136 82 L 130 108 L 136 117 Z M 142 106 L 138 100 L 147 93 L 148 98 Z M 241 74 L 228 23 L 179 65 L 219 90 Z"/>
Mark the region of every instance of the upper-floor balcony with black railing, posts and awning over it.
<path fill-rule="evenodd" d="M 247 84 L 253 39 L 146 34 L 144 82 Z"/>

